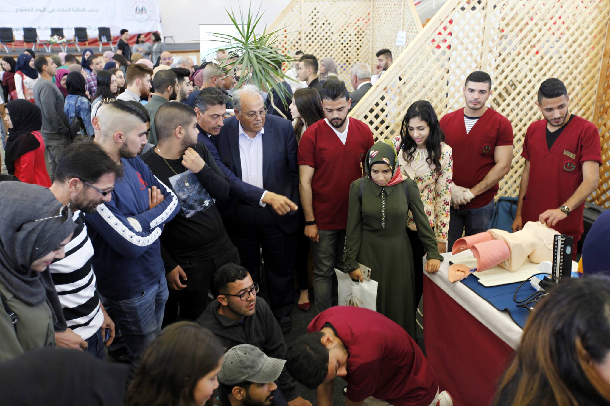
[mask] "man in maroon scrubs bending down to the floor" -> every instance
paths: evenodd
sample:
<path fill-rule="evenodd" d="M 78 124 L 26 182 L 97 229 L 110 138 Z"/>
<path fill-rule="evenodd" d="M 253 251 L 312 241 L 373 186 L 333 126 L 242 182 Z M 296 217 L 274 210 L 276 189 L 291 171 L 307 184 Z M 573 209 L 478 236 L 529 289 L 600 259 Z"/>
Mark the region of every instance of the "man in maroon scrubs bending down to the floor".
<path fill-rule="evenodd" d="M 288 346 L 286 368 L 317 388 L 318 406 L 332 405 L 337 376 L 348 383 L 346 406 L 453 405 L 447 391 L 439 394 L 436 375 L 415 341 L 377 312 L 331 307 L 309 323 L 307 333 Z"/>

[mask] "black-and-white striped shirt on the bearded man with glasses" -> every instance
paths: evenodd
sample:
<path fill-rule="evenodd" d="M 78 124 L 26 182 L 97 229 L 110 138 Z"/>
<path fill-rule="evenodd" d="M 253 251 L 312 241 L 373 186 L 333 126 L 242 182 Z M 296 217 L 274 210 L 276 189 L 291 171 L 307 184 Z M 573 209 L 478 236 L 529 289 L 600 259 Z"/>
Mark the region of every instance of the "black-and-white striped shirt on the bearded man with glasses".
<path fill-rule="evenodd" d="M 49 271 L 68 327 L 87 340 L 102 326 L 104 313 L 99 307 L 95 275 L 91 268 L 93 245 L 87 234 L 85 215 L 76 211 L 72 219 L 77 227 L 66 244 L 66 256 L 54 261 Z"/>

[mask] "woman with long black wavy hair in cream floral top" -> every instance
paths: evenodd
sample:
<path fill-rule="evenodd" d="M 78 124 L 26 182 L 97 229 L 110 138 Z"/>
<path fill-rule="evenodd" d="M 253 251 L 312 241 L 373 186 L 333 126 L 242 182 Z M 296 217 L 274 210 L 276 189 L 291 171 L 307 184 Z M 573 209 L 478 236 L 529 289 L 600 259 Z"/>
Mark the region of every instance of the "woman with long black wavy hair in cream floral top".
<path fill-rule="evenodd" d="M 398 152 L 398 164 L 404 175 L 415 180 L 430 226 L 434 230 L 439 253 L 447 252 L 453 156 L 445 142 L 439 119 L 426 100 L 414 102 L 404 116 L 400 136 L 392 141 Z M 415 307 L 423 293 L 422 257 L 425 250 L 417 236 L 413 215 L 409 212 L 407 234 L 413 250 L 415 269 Z"/>

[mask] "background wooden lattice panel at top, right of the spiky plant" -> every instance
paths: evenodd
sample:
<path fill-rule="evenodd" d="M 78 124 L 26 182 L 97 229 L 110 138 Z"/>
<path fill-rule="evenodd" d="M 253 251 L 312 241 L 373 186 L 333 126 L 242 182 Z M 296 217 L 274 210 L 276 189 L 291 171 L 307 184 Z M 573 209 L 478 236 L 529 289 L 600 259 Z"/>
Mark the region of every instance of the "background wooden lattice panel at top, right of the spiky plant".
<path fill-rule="evenodd" d="M 334 59 L 348 88 L 351 66 L 367 62 L 373 67 L 375 52 L 395 46 L 398 30 L 407 32 L 407 43 L 422 29 L 412 0 L 292 0 L 267 27 L 279 30 L 278 47 L 288 55 L 298 50 L 318 60 Z"/>

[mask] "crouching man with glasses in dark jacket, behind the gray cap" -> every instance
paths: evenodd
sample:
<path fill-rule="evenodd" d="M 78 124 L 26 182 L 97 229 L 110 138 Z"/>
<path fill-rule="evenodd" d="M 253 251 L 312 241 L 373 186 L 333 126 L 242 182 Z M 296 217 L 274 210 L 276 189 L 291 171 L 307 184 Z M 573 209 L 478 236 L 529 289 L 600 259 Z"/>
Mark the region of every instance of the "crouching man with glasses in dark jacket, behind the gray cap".
<path fill-rule="evenodd" d="M 225 348 L 249 344 L 268 357 L 284 360 L 286 347 L 282 331 L 267 303 L 257 296 L 259 285 L 254 283 L 246 268 L 223 265 L 214 275 L 214 285 L 218 296 L 196 323 L 213 332 Z M 298 396 L 296 382 L 285 369 L 273 380 L 277 380 L 279 387 L 274 405 L 311 405 Z"/>

